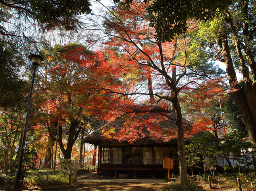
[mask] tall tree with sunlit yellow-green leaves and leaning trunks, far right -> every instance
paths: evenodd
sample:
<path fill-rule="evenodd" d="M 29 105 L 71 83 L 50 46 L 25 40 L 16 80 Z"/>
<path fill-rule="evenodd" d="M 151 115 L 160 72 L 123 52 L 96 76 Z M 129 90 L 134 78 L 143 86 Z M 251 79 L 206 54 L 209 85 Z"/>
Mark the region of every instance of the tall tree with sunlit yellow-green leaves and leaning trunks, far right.
<path fill-rule="evenodd" d="M 198 23 L 198 28 L 191 34 L 191 50 L 200 49 L 196 53 L 197 56 L 204 54 L 209 60 L 223 62 L 227 66 L 231 93 L 254 146 L 256 145 L 255 19 L 255 2 L 235 1 L 229 9 L 224 9 L 222 16 Z M 206 50 L 205 47 L 209 49 Z M 236 69 L 243 76 L 244 87 L 238 82 Z"/>

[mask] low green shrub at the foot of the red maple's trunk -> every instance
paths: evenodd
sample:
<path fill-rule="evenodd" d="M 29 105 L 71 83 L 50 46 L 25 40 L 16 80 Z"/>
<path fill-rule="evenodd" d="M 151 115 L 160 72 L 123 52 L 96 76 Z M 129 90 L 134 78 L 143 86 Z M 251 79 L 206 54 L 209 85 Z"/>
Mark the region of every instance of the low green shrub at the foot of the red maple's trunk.
<path fill-rule="evenodd" d="M 169 185 L 166 185 L 162 188 L 157 189 L 156 191 L 201 191 L 202 188 L 197 187 L 196 184 L 189 184 L 187 186 L 181 186 L 179 182 L 173 182 Z"/>

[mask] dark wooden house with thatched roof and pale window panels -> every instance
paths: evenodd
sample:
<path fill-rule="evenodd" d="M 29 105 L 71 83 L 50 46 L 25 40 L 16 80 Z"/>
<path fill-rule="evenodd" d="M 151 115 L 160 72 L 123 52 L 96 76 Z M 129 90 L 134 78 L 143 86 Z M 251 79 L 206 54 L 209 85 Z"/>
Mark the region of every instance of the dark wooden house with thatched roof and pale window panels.
<path fill-rule="evenodd" d="M 132 121 L 135 122 L 131 124 Z M 131 127 L 135 124 L 138 126 Z M 183 124 L 184 128 L 191 128 L 185 119 Z M 162 159 L 166 157 L 174 159 L 171 173 L 179 173 L 175 122 L 158 113 L 115 119 L 89 134 L 83 142 L 99 148 L 99 175 L 164 177 L 167 169 L 163 168 Z"/>

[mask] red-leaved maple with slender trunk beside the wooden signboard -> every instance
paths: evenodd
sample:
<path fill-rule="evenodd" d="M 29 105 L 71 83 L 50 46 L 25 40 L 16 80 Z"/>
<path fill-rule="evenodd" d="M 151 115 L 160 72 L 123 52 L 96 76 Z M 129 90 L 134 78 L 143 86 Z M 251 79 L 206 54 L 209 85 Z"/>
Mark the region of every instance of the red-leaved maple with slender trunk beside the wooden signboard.
<path fill-rule="evenodd" d="M 115 61 L 115 57 L 111 57 L 112 63 L 117 62 L 119 68 L 127 66 L 127 61 L 135 62 L 138 68 L 133 70 L 140 71 L 140 76 L 150 78 L 152 75 L 153 87 L 156 93 L 149 91 L 141 91 L 136 89 L 134 92 L 122 93 L 121 91 L 111 88 L 103 88 L 112 93 L 119 95 L 150 95 L 155 97 L 154 105 L 162 103 L 164 106 L 169 103 L 173 104 L 175 117 L 162 113 L 162 115 L 175 121 L 177 126 L 178 152 L 181 184 L 187 185 L 187 166 L 185 160 L 184 135 L 182 125 L 181 107 L 179 104 L 179 93 L 192 84 L 194 81 L 187 78 L 190 74 L 187 58 L 187 39 L 182 36 L 173 36 L 173 42 L 163 43 L 155 40 L 155 28 L 149 25 L 150 14 L 146 11 L 147 5 L 140 2 L 130 4 L 129 10 L 124 10 L 120 5 L 116 5 L 112 9 L 108 9 L 109 15 L 102 16 L 104 26 L 96 25 L 99 30 L 108 36 L 106 45 L 118 47 L 122 59 Z M 177 78 L 172 78 L 172 71 L 175 68 Z M 176 76 L 176 75 L 174 75 Z M 141 111 L 145 112 L 145 111 Z"/>

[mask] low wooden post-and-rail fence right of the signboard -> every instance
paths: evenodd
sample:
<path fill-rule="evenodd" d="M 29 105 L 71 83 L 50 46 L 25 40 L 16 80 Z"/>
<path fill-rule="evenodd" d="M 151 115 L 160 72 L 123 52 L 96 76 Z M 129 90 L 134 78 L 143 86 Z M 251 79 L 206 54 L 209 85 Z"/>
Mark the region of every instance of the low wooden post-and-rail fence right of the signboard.
<path fill-rule="evenodd" d="M 188 180 L 189 180 L 189 181 L 191 180 L 191 178 L 192 178 L 192 177 L 189 176 L 189 174 L 188 174 Z M 208 180 L 208 184 L 209 184 L 209 187 L 210 187 L 210 188 L 212 188 L 212 180 L 227 181 L 227 182 L 237 182 L 239 191 L 242 191 L 242 184 L 241 184 L 241 183 L 249 183 L 249 184 L 251 184 L 251 185 L 256 184 L 256 182 L 241 181 L 240 178 L 237 178 L 237 180 L 226 180 L 226 179 L 212 178 L 211 176 L 208 176 L 208 178 L 196 176 L 196 177 L 194 177 L 194 179 L 197 179 L 197 180 L 198 180 L 198 179 L 204 179 L 204 180 L 205 180 L 205 183 L 207 183 L 207 180 Z M 173 181 L 179 180 L 179 176 L 174 176 L 174 174 L 172 174 L 170 180 L 173 180 Z"/>

